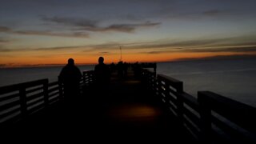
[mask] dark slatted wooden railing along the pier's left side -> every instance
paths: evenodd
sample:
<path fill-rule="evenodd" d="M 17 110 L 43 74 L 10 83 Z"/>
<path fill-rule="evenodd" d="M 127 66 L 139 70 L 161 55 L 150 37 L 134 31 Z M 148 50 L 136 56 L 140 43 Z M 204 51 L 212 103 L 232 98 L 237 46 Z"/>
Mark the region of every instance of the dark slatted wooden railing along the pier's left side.
<path fill-rule="evenodd" d="M 93 83 L 93 70 L 83 72 L 80 92 Z M 40 79 L 0 87 L 0 126 L 18 122 L 64 98 L 63 84 Z"/>

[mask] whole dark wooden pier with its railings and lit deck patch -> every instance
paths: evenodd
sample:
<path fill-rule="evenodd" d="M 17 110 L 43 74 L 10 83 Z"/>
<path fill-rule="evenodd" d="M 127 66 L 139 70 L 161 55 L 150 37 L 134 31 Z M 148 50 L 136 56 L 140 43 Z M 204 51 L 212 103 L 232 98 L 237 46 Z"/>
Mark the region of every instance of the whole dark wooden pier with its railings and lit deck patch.
<path fill-rule="evenodd" d="M 0 87 L 1 134 L 13 137 L 255 143 L 255 122 L 254 107 L 210 91 L 191 96 L 181 81 L 156 74 L 155 63 L 131 65 L 122 77 L 113 70 L 100 90 L 94 70 L 83 71 L 80 95 L 70 101 L 62 83 L 48 79 Z"/>

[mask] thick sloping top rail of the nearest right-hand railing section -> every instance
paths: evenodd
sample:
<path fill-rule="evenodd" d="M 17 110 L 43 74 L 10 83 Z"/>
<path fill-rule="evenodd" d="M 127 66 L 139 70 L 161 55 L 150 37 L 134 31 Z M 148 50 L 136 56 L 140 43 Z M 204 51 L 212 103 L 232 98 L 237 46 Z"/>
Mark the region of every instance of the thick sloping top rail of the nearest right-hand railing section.
<path fill-rule="evenodd" d="M 199 91 L 198 102 L 204 103 L 204 106 L 218 112 L 218 114 L 222 114 L 230 119 L 230 121 L 256 132 L 256 126 L 254 126 L 256 122 L 256 109 L 254 107 L 210 91 Z"/>

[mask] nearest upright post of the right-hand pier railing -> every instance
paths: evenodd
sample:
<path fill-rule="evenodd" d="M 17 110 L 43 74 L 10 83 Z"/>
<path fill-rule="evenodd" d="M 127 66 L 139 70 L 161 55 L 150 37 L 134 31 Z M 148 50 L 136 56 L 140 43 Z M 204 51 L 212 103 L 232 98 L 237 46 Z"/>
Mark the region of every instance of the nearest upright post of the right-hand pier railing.
<path fill-rule="evenodd" d="M 205 95 L 198 91 L 199 114 L 201 121 L 201 136 L 200 141 L 203 143 L 210 143 L 211 135 L 211 110 L 210 106 L 206 103 Z"/>

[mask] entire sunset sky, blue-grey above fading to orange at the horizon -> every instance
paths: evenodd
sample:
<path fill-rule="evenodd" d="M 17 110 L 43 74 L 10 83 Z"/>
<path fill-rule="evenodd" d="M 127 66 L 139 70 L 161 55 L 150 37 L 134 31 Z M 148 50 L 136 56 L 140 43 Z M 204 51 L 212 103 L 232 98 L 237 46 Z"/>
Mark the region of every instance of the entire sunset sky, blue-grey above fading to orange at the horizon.
<path fill-rule="evenodd" d="M 0 66 L 256 54 L 255 0 L 1 0 Z"/>

